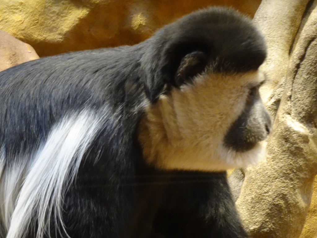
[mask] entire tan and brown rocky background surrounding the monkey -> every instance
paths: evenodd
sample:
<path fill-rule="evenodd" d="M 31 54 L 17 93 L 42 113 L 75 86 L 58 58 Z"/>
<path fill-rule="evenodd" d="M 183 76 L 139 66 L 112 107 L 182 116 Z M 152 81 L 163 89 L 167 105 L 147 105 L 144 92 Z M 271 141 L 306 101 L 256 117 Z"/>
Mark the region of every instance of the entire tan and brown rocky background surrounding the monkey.
<path fill-rule="evenodd" d="M 267 156 L 229 176 L 243 223 L 253 238 L 317 238 L 317 0 L 1 0 L 0 70 L 37 54 L 135 44 L 211 5 L 254 17 L 268 43 Z"/>

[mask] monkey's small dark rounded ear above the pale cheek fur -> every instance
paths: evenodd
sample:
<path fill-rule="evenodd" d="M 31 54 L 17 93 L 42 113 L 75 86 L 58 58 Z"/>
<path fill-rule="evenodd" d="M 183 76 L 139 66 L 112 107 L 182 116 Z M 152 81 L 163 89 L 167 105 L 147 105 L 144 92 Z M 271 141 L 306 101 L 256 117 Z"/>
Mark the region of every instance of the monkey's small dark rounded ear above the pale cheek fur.
<path fill-rule="evenodd" d="M 185 55 L 175 74 L 175 86 L 192 83 L 195 76 L 204 72 L 207 60 L 207 54 L 203 51 L 194 51 Z"/>

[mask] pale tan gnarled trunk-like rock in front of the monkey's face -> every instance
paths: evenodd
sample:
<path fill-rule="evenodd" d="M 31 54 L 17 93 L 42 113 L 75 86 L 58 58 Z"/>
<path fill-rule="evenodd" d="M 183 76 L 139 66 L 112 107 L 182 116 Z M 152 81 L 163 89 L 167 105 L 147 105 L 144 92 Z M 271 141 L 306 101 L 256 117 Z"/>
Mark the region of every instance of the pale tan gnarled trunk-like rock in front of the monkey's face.
<path fill-rule="evenodd" d="M 254 238 L 299 237 L 310 206 L 317 173 L 314 2 L 263 0 L 255 16 L 268 42 L 262 69 L 270 81 L 263 92 L 273 131 L 265 160 L 244 169 L 244 177 L 230 175 L 231 184 L 243 182 L 235 188 L 236 206 Z"/>

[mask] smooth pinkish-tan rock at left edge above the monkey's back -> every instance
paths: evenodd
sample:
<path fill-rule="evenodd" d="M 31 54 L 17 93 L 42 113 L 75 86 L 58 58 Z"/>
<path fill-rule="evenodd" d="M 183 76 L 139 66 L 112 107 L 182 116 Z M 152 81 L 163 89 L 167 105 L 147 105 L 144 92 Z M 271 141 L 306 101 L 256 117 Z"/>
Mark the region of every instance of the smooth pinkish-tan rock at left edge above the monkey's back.
<path fill-rule="evenodd" d="M 0 39 L 0 71 L 39 58 L 32 46 L 3 30 L 0 30 Z"/>

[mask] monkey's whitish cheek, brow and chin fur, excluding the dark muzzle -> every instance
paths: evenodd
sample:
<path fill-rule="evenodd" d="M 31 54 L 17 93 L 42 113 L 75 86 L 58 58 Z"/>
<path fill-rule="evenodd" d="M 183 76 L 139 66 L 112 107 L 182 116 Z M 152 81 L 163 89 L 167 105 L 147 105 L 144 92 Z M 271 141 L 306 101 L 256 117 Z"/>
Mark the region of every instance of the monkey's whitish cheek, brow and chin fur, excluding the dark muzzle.
<path fill-rule="evenodd" d="M 161 169 L 221 171 L 241 168 L 265 154 L 262 143 L 246 152 L 223 146 L 223 136 L 244 109 L 245 85 L 259 72 L 200 75 L 193 85 L 172 90 L 150 107 L 139 140 L 146 161 Z"/>

